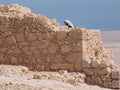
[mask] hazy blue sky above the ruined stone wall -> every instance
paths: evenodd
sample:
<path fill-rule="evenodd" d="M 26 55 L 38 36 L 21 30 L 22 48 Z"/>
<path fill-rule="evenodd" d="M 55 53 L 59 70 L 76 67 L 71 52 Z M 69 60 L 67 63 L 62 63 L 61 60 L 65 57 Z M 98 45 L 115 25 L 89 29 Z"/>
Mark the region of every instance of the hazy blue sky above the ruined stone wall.
<path fill-rule="evenodd" d="M 0 0 L 0 4 L 12 3 L 56 18 L 61 25 L 69 19 L 77 27 L 120 30 L 120 0 Z"/>

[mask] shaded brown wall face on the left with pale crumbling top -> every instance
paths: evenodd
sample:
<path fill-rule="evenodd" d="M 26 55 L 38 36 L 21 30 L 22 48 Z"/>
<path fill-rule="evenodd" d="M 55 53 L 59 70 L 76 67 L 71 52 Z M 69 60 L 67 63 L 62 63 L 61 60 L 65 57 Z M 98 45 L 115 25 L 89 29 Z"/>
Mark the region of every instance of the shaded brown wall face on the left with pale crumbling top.
<path fill-rule="evenodd" d="M 58 26 L 55 19 L 34 15 L 27 8 L 24 13 L 18 5 L 6 8 L 0 17 L 1 64 L 24 65 L 39 71 L 80 71 L 81 30 L 55 31 Z"/>

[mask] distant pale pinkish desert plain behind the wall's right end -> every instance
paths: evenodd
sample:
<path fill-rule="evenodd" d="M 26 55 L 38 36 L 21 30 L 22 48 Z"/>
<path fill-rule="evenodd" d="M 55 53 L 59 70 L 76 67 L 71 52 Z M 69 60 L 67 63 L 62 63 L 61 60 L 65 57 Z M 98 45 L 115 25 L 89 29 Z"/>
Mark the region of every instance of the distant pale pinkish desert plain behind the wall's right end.
<path fill-rule="evenodd" d="M 120 31 L 102 32 L 104 46 L 113 52 L 116 65 L 120 66 Z"/>

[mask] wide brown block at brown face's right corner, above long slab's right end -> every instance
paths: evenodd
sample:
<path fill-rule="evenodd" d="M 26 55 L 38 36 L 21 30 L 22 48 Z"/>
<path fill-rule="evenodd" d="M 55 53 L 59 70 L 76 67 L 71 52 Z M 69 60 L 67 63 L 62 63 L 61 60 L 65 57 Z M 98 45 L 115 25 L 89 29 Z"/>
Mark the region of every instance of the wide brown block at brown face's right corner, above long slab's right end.
<path fill-rule="evenodd" d="M 82 54 L 81 53 L 70 53 L 66 56 L 66 61 L 68 62 L 81 62 Z"/>

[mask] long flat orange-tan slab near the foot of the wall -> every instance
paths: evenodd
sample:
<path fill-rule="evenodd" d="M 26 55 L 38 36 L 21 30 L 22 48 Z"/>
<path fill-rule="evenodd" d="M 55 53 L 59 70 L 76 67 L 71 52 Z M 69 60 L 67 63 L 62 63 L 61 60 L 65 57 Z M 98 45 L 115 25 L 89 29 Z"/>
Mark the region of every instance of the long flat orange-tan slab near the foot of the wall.
<path fill-rule="evenodd" d="M 60 64 L 53 64 L 50 66 L 52 70 L 70 70 L 73 68 L 73 64 L 67 64 L 67 63 L 60 63 Z"/>

